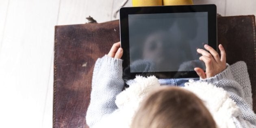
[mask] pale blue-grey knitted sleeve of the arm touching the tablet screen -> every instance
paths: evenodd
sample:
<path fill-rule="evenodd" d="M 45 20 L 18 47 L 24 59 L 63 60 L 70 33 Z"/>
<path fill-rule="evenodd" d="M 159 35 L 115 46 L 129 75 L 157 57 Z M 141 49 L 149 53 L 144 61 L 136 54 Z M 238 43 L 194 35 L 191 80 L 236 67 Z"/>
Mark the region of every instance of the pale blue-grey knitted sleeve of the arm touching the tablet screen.
<path fill-rule="evenodd" d="M 256 126 L 256 115 L 254 111 L 252 110 L 251 104 L 248 101 L 248 95 L 247 93 L 251 92 L 245 92 L 249 89 L 244 89 L 244 86 L 241 85 L 241 82 L 238 82 L 239 80 L 236 80 L 232 74 L 233 67 L 235 65 L 228 65 L 227 68 L 211 77 L 206 79 L 201 79 L 202 82 L 209 82 L 217 87 L 222 87 L 225 91 L 228 92 L 230 95 L 230 98 L 236 102 L 236 105 L 240 108 L 242 115 L 241 117 L 250 123 L 252 126 Z M 239 71 L 236 71 L 239 72 Z M 249 86 L 250 87 L 250 86 Z M 252 97 L 250 97 L 252 98 Z M 241 122 L 242 123 L 242 122 Z"/>

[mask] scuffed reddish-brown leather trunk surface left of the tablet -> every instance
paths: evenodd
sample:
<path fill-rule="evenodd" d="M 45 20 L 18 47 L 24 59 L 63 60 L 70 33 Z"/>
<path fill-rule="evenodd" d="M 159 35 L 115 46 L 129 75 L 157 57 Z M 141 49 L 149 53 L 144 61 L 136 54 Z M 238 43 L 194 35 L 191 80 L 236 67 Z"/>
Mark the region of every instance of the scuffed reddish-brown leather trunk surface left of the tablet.
<path fill-rule="evenodd" d="M 55 27 L 54 128 L 88 128 L 94 63 L 119 40 L 119 21 Z"/>

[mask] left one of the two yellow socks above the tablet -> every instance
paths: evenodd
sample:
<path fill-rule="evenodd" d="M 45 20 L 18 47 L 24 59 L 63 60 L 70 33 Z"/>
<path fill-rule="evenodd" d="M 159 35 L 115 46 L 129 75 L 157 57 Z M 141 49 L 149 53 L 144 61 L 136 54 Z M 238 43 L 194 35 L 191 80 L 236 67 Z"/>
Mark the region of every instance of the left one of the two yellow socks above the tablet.
<path fill-rule="evenodd" d="M 162 6 L 162 0 L 132 0 L 133 7 L 139 6 Z"/>

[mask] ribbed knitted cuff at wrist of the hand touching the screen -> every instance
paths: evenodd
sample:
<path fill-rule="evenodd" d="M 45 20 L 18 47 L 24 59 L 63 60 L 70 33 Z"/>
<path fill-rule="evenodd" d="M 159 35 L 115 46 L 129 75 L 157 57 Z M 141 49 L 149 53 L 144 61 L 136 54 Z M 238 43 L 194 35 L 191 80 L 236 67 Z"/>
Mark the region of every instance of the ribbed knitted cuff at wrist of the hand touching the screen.
<path fill-rule="evenodd" d="M 232 72 L 230 70 L 230 66 L 229 64 L 227 63 L 226 64 L 226 69 L 224 71 L 222 71 L 221 73 L 213 76 L 213 77 L 210 77 L 210 78 L 206 78 L 206 79 L 201 79 L 199 81 L 202 81 L 202 82 L 210 82 L 210 83 L 217 83 L 219 82 L 219 80 L 223 79 L 223 78 L 230 78 L 232 76 Z"/>

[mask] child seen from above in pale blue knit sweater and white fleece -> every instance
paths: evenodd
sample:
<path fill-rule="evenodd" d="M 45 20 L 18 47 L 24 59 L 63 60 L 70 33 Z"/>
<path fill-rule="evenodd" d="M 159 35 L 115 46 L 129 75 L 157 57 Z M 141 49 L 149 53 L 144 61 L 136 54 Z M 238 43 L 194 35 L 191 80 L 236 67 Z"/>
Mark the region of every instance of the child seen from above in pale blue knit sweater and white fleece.
<path fill-rule="evenodd" d="M 256 127 L 252 93 L 244 62 L 226 64 L 210 46 L 197 49 L 206 72 L 196 67 L 200 80 L 185 87 L 160 87 L 154 76 L 138 76 L 124 89 L 123 50 L 115 43 L 108 55 L 95 63 L 91 102 L 86 120 L 90 128 L 200 128 Z M 159 90 L 158 90 L 159 89 Z M 168 94 L 168 95 L 167 95 Z M 143 102 L 142 102 L 143 101 Z"/>

